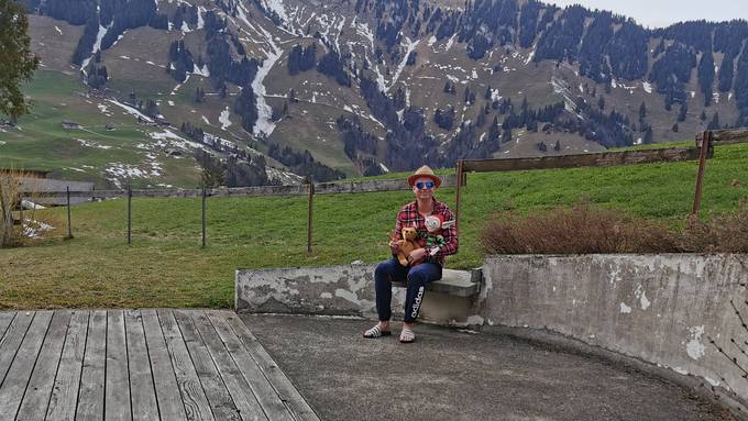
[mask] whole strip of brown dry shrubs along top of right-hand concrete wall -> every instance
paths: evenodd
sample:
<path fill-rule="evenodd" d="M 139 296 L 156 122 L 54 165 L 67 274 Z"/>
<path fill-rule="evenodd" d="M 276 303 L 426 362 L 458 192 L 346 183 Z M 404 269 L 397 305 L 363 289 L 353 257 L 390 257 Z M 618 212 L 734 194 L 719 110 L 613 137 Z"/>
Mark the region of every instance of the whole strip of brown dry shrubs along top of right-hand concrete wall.
<path fill-rule="evenodd" d="M 521 215 L 505 212 L 479 237 L 490 254 L 748 253 L 748 201 L 683 230 L 592 204 Z"/>

